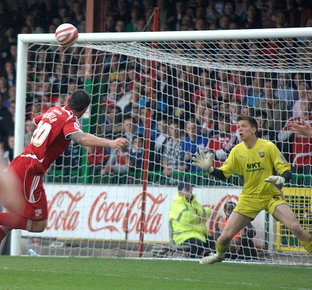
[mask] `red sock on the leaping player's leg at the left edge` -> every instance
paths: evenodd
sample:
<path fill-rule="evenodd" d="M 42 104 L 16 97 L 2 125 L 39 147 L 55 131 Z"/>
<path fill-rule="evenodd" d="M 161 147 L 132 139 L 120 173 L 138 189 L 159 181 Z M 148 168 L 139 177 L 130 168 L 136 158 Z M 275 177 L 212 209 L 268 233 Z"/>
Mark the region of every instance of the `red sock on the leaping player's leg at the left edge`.
<path fill-rule="evenodd" d="M 31 230 L 33 221 L 12 212 L 0 212 L 0 242 L 10 233 L 12 228 Z"/>

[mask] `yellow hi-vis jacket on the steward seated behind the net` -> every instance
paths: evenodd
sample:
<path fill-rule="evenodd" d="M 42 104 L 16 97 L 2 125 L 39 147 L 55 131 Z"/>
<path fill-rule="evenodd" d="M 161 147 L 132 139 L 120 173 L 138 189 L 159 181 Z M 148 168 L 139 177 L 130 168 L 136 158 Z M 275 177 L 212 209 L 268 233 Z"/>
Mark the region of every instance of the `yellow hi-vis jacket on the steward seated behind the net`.
<path fill-rule="evenodd" d="M 175 194 L 169 212 L 173 243 L 179 246 L 191 238 L 206 242 L 205 235 L 209 232 L 206 221 L 210 216 L 210 208 L 203 207 L 196 201 L 195 195 L 193 195 L 191 201 L 187 201 L 180 194 Z"/>

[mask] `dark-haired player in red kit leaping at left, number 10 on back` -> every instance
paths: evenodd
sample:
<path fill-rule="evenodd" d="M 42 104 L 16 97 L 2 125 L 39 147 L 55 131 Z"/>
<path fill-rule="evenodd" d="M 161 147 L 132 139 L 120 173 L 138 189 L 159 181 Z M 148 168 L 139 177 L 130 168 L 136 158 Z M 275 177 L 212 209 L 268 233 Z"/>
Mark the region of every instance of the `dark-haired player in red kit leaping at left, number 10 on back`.
<path fill-rule="evenodd" d="M 33 233 L 44 231 L 48 209 L 42 179 L 51 163 L 64 152 L 71 140 L 88 147 L 119 149 L 129 143 L 126 138 L 111 141 L 84 133 L 80 129 L 78 118 L 85 114 L 89 103 L 89 94 L 78 89 L 72 93 L 67 106 L 53 107 L 35 117 L 37 128 L 31 142 L 10 163 L 9 169 L 20 181 L 22 189 L 17 199 L 22 200 L 22 204 L 3 204 L 9 212 L 0 212 L 0 242 L 13 228 Z"/>

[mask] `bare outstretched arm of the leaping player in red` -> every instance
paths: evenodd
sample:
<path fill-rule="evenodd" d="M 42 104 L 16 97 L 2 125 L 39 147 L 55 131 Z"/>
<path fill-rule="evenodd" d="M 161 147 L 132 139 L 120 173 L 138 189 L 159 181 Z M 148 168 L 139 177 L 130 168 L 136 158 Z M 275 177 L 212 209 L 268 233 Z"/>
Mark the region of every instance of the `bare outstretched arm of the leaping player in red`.
<path fill-rule="evenodd" d="M 85 132 L 76 132 L 69 135 L 72 141 L 87 147 L 110 147 L 121 149 L 129 143 L 126 138 L 116 138 L 115 140 L 108 140 L 105 138 L 97 137 Z"/>

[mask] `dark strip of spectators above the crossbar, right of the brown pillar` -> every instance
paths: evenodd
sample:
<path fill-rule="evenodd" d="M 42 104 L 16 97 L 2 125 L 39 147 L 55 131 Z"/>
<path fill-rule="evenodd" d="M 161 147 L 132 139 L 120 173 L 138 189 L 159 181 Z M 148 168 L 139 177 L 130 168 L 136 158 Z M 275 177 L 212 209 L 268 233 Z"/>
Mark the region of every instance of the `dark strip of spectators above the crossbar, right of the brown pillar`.
<path fill-rule="evenodd" d="M 107 1 L 105 31 L 152 30 L 148 22 L 158 6 L 160 30 L 285 28 L 311 25 L 312 5 L 304 0 Z M 130 11 L 130 12 L 129 12 Z"/>

